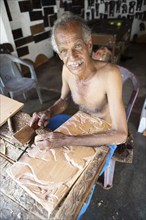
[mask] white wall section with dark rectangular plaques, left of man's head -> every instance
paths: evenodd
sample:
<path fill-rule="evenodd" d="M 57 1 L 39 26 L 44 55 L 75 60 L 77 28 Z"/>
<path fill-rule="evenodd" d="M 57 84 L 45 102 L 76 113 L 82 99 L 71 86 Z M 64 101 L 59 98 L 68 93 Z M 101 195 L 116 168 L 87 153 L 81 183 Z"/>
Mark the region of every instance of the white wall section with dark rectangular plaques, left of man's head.
<path fill-rule="evenodd" d="M 51 4 L 56 1 L 38 1 L 38 0 L 1 0 L 5 4 L 7 15 L 2 15 L 2 20 L 6 17 L 9 20 L 10 27 L 7 28 L 7 37 L 11 29 L 13 41 L 9 42 L 13 45 L 19 57 L 32 60 L 34 63 L 38 61 L 40 55 L 47 58 L 53 56 L 53 50 L 50 44 L 50 31 L 52 23 L 48 21 L 48 14 L 54 12 Z M 52 3 L 51 3 L 52 2 Z M 53 18 L 51 18 L 53 20 Z M 56 17 L 54 18 L 56 19 Z M 4 33 L 4 32 L 3 32 Z M 4 34 L 3 34 L 4 35 Z M 2 37 L 4 42 L 4 37 Z M 41 56 L 42 60 L 42 56 Z"/>

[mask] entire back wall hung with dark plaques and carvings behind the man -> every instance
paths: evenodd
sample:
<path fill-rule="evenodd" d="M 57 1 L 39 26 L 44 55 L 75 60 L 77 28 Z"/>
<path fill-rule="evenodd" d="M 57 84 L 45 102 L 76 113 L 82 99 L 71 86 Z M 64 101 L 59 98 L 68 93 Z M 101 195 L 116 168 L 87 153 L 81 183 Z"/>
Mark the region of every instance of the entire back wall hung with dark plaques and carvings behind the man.
<path fill-rule="evenodd" d="M 131 39 L 146 34 L 146 0 L 0 1 L 4 2 L 6 8 L 6 13 L 1 13 L 1 20 L 4 21 L 4 29 L 6 29 L 6 33 L 4 31 L 1 34 L 1 43 L 6 39 L 12 43 L 19 57 L 33 62 L 36 62 L 42 54 L 47 58 L 53 56 L 50 44 L 51 28 L 56 18 L 64 11 L 72 11 L 86 20 L 133 18 Z"/>

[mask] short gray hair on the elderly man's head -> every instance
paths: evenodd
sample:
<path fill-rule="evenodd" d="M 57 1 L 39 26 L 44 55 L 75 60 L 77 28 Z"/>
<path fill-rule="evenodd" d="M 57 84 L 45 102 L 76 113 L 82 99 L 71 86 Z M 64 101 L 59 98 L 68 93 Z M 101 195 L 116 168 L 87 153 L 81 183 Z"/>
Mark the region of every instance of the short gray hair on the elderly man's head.
<path fill-rule="evenodd" d="M 58 18 L 54 26 L 52 28 L 52 34 L 51 34 L 51 43 L 53 50 L 59 54 L 58 46 L 55 41 L 55 31 L 58 27 L 65 26 L 68 23 L 77 22 L 79 25 L 81 25 L 82 33 L 83 33 L 83 40 L 85 43 L 90 39 L 91 37 L 91 30 L 86 24 L 85 20 L 83 20 L 81 17 L 72 14 L 71 12 L 64 13 L 60 18 Z"/>

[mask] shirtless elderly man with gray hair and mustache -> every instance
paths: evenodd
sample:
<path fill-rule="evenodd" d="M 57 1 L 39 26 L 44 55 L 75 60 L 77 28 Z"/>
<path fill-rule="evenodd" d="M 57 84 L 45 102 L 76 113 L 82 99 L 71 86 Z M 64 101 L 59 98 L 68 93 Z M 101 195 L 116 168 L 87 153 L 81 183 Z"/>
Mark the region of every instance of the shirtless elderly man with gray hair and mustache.
<path fill-rule="evenodd" d="M 68 107 L 69 97 L 81 111 L 106 120 L 108 131 L 88 135 L 48 132 L 37 135 L 39 147 L 117 145 L 127 139 L 127 122 L 122 101 L 122 79 L 116 65 L 93 60 L 91 31 L 85 21 L 71 13 L 59 18 L 52 30 L 52 45 L 63 61 L 61 97 L 49 109 L 34 113 L 31 126 L 45 127 L 51 117 Z"/>

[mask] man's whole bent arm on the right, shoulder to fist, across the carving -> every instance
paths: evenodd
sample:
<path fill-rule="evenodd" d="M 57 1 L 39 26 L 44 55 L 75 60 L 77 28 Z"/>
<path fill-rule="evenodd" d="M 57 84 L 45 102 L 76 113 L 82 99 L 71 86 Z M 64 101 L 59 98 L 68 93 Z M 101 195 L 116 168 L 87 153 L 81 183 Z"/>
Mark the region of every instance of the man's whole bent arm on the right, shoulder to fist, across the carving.
<path fill-rule="evenodd" d="M 127 139 L 127 121 L 125 108 L 122 101 L 122 79 L 117 68 L 112 68 L 105 77 L 106 93 L 109 103 L 110 116 L 112 121 L 111 130 L 101 133 L 70 136 L 61 133 L 49 133 L 47 136 L 37 136 L 35 139 L 38 145 L 48 147 L 58 146 L 101 146 L 124 143 Z M 41 140 L 44 140 L 42 142 Z"/>

